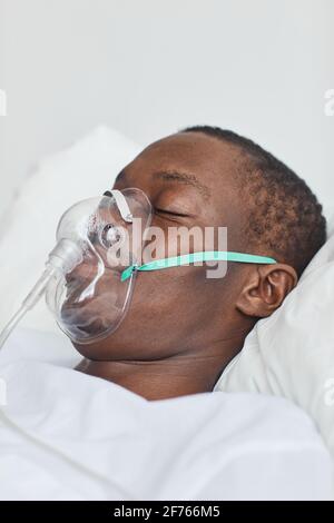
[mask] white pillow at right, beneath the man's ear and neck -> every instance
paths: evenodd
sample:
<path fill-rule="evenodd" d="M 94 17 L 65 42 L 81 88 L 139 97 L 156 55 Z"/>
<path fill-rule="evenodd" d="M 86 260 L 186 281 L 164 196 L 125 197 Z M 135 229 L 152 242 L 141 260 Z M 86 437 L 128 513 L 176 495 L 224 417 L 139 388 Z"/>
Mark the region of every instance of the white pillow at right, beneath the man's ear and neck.
<path fill-rule="evenodd" d="M 334 456 L 333 226 L 295 289 L 255 325 L 214 391 L 291 398 L 313 417 Z"/>

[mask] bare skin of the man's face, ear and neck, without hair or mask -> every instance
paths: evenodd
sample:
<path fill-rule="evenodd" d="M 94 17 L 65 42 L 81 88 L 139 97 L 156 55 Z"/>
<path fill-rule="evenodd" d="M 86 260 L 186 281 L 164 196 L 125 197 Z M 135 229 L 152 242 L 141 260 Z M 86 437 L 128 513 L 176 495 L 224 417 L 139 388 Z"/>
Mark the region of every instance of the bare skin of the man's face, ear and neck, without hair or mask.
<path fill-rule="evenodd" d="M 153 225 L 166 231 L 168 226 L 227 226 L 228 250 L 249 253 L 236 181 L 239 158 L 235 146 L 179 132 L 147 147 L 114 188 L 144 190 L 155 209 Z M 139 273 L 117 330 L 75 345 L 85 356 L 77 369 L 147 399 L 213 391 L 257 319 L 269 316 L 296 285 L 294 268 L 278 262 L 229 263 L 226 276 L 216 279 L 206 277 L 205 266 Z"/>

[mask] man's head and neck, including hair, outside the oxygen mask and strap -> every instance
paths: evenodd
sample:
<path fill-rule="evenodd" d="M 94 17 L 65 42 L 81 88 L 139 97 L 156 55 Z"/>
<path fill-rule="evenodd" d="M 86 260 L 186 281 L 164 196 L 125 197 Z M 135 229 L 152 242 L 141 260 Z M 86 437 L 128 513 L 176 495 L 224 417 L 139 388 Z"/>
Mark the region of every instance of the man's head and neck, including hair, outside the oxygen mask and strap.
<path fill-rule="evenodd" d="M 77 369 L 147 399 L 214 388 L 255 323 L 295 287 L 325 243 L 322 206 L 269 152 L 232 131 L 193 127 L 154 142 L 122 169 L 115 189 L 150 199 L 153 225 L 227 227 L 228 250 L 276 264 L 228 263 L 226 276 L 180 266 L 138 274 L 132 302 L 109 337 L 76 344 Z"/>

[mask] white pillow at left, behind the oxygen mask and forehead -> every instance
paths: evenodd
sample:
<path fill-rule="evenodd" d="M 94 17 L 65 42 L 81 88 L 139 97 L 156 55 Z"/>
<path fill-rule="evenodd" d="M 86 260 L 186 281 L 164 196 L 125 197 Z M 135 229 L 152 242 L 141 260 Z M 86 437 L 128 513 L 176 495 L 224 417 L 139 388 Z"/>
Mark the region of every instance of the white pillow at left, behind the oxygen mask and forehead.
<path fill-rule="evenodd" d="M 111 188 L 119 170 L 139 151 L 119 132 L 99 127 L 42 160 L 22 185 L 0 231 L 0 328 L 41 275 L 61 214 L 73 203 Z M 43 299 L 20 325 L 59 333 Z"/>

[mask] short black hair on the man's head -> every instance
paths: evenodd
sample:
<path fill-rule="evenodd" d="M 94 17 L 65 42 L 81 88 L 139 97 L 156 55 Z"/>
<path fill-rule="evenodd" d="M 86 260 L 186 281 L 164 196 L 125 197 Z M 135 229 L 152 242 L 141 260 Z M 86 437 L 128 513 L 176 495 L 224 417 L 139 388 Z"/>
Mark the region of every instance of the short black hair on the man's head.
<path fill-rule="evenodd" d="M 230 130 L 194 126 L 179 132 L 202 132 L 239 149 L 238 176 L 249 209 L 247 246 L 265 249 L 266 255 L 289 264 L 301 276 L 326 241 L 322 205 L 306 182 L 271 152 Z"/>

